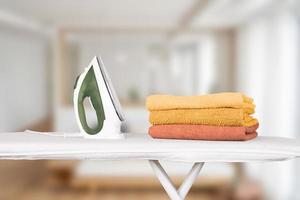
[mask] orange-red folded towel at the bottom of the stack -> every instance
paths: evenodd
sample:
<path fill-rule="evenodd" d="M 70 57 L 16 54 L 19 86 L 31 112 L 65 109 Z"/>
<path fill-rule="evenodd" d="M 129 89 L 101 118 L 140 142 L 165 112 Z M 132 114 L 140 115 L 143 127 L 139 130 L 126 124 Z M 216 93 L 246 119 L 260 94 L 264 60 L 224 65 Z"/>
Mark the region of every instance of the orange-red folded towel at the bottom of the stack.
<path fill-rule="evenodd" d="M 258 123 L 249 126 L 154 125 L 149 128 L 153 138 L 189 140 L 250 140 L 257 136 Z"/>

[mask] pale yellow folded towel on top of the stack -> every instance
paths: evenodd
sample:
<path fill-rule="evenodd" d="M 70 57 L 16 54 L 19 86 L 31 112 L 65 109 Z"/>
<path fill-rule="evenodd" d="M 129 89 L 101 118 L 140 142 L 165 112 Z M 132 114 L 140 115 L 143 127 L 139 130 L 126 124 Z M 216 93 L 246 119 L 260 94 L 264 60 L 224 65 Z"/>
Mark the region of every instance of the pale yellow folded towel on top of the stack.
<path fill-rule="evenodd" d="M 147 98 L 148 110 L 241 108 L 254 113 L 253 99 L 241 93 L 217 93 L 201 96 L 152 95 Z"/>

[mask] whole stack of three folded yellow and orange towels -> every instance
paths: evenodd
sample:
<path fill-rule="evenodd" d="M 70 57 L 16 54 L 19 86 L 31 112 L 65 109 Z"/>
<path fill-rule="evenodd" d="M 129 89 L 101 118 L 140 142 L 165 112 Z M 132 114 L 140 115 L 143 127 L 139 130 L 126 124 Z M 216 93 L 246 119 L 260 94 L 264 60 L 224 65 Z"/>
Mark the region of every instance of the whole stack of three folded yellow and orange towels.
<path fill-rule="evenodd" d="M 241 93 L 202 96 L 153 95 L 149 134 L 154 138 L 249 140 L 257 136 L 253 99 Z"/>

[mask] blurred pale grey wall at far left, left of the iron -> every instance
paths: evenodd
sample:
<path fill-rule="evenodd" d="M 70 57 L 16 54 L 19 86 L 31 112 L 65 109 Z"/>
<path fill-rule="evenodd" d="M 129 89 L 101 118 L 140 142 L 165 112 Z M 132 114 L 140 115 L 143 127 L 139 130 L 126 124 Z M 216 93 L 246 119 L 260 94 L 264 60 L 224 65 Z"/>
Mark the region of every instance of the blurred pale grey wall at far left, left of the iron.
<path fill-rule="evenodd" d="M 0 131 L 15 131 L 48 114 L 47 40 L 0 24 Z"/>

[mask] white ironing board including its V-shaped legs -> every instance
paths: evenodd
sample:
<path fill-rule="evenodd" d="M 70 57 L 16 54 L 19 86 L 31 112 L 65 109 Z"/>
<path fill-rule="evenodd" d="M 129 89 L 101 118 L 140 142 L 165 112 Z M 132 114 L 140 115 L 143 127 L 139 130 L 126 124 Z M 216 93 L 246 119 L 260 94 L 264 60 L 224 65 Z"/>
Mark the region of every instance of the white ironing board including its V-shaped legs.
<path fill-rule="evenodd" d="M 0 159 L 147 160 L 171 199 L 184 199 L 205 162 L 283 161 L 300 157 L 300 140 L 257 137 L 246 142 L 152 139 L 91 140 L 66 133 L 0 133 Z M 159 161 L 194 163 L 177 190 Z"/>

